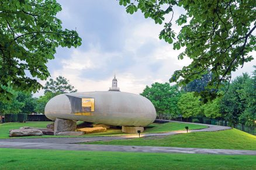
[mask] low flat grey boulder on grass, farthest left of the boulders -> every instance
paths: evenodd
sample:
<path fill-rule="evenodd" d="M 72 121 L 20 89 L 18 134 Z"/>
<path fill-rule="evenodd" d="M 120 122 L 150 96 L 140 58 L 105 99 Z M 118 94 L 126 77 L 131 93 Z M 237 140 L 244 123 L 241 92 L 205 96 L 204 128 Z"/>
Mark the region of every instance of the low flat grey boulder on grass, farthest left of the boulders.
<path fill-rule="evenodd" d="M 42 136 L 43 132 L 38 129 L 13 129 L 10 130 L 10 137 L 19 137 L 19 136 Z"/>

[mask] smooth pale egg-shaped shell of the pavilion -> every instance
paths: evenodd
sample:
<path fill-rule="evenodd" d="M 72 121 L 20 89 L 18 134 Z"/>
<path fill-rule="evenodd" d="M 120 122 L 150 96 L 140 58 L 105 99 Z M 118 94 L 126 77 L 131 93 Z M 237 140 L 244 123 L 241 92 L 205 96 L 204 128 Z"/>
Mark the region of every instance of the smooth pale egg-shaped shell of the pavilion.
<path fill-rule="evenodd" d="M 75 114 L 81 107 L 70 98 L 94 98 L 95 111 Z M 120 91 L 94 91 L 60 94 L 47 102 L 44 114 L 47 118 L 71 119 L 115 126 L 147 126 L 156 118 L 154 105 L 147 98 Z"/>

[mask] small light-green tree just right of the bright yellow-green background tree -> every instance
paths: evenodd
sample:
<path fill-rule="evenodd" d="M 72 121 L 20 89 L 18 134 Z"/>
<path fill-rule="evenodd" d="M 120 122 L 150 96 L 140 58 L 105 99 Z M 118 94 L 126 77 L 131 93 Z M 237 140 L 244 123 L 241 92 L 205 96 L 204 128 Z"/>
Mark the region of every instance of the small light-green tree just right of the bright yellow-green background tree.
<path fill-rule="evenodd" d="M 221 99 L 218 97 L 213 101 L 208 101 L 202 106 L 203 114 L 207 118 L 219 118 L 222 116 L 222 114 L 220 114 L 220 100 Z"/>

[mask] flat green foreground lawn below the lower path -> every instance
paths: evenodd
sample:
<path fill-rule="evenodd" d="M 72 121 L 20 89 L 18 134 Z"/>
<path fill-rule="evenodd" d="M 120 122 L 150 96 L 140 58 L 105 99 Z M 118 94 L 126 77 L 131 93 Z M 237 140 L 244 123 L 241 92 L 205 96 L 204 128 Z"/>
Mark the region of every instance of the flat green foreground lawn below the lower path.
<path fill-rule="evenodd" d="M 0 169 L 255 169 L 254 155 L 0 148 Z"/>

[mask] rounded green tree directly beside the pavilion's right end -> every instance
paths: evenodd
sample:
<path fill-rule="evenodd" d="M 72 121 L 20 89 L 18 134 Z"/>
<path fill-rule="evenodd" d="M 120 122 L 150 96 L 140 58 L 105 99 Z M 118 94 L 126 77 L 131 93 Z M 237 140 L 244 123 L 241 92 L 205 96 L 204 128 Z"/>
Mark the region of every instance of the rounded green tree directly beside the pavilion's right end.
<path fill-rule="evenodd" d="M 153 103 L 157 114 L 169 114 L 172 118 L 179 115 L 177 102 L 181 97 L 181 91 L 179 91 L 178 86 L 156 82 L 151 87 L 146 86 L 140 95 L 148 98 Z"/>

